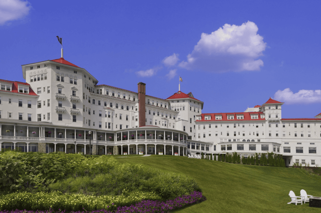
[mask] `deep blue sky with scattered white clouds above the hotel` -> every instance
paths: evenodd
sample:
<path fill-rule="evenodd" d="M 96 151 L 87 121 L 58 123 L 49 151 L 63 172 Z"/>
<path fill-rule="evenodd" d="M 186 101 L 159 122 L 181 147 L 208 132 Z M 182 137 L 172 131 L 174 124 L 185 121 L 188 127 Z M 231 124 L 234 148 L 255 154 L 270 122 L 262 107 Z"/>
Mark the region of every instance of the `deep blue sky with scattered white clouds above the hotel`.
<path fill-rule="evenodd" d="M 178 91 L 203 113 L 242 112 L 270 97 L 282 118 L 321 112 L 320 1 L 0 2 L 1 79 L 22 64 L 64 58 L 99 84 L 166 99 Z"/>

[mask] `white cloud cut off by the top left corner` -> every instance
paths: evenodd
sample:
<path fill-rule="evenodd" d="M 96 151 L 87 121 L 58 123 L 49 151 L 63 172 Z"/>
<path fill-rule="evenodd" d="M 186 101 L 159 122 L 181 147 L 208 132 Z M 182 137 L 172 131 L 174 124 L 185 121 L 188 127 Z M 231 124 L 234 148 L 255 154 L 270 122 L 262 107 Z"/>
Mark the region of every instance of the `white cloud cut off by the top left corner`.
<path fill-rule="evenodd" d="M 0 25 L 7 21 L 22 19 L 31 9 L 28 1 L 0 0 Z"/>

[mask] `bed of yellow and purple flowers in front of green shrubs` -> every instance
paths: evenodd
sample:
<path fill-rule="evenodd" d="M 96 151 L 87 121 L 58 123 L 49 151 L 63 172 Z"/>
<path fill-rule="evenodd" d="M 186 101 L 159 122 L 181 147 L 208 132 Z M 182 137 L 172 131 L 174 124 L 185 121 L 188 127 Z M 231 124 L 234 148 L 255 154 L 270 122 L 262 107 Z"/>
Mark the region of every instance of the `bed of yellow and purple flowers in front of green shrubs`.
<path fill-rule="evenodd" d="M 23 194 L 23 193 L 16 193 L 16 194 Z M 27 200 L 30 201 L 31 199 L 27 196 L 27 194 L 30 194 L 30 193 L 24 193 L 24 198 L 23 200 L 19 200 L 18 199 L 18 196 L 16 198 L 14 198 L 13 202 L 10 201 L 9 203 L 13 203 L 13 204 L 17 204 L 16 202 L 25 202 L 26 205 L 30 206 L 30 203 L 27 203 Z M 48 193 L 43 193 L 44 195 L 48 195 Z M 149 193 L 151 194 L 151 193 Z M 152 194 L 153 195 L 153 194 Z M 78 196 L 81 196 L 81 197 L 86 197 L 85 195 L 78 195 Z M 121 195 L 122 196 L 122 195 Z M 132 199 L 133 201 L 134 200 L 137 200 L 137 197 L 135 196 L 138 196 L 138 194 L 134 194 L 132 195 Z M 193 204 L 193 203 L 196 203 L 196 202 L 200 202 L 200 201 L 205 201 L 206 198 L 204 196 L 202 196 L 202 193 L 201 192 L 196 192 L 194 191 L 193 193 L 191 193 L 190 195 L 183 195 L 183 196 L 179 196 L 173 200 L 167 200 L 167 201 L 152 201 L 152 200 L 141 200 L 141 201 L 136 201 L 135 204 L 132 204 L 130 206 L 124 206 L 126 205 L 128 202 L 124 203 L 124 201 L 119 201 L 118 200 L 118 203 L 116 202 L 113 202 L 111 200 L 108 200 L 108 204 L 107 204 L 107 199 L 105 197 L 112 197 L 112 196 L 101 196 L 101 197 L 97 197 L 97 200 L 96 199 L 92 199 L 93 196 L 87 196 L 89 197 L 89 199 L 91 199 L 89 201 L 91 207 L 96 207 L 98 209 L 101 208 L 101 210 L 96 210 L 95 212 L 104 212 L 104 213 L 125 213 L 125 212 L 133 212 L 133 213 L 139 213 L 139 212 L 154 212 L 154 213 L 158 213 L 158 212 L 168 212 L 169 210 L 173 210 L 173 209 L 177 209 L 177 208 L 182 208 L 184 206 L 187 206 L 187 205 L 190 205 L 190 204 Z M 117 196 L 118 197 L 118 196 Z M 119 196 L 120 197 L 120 196 Z M 139 195 L 138 197 L 142 197 L 141 195 Z M 123 198 L 123 197 L 122 197 Z M 41 199 L 39 198 L 39 202 L 34 202 L 35 204 L 32 205 L 32 209 L 42 209 L 41 206 L 42 206 L 42 203 L 45 203 L 44 199 Z M 71 213 L 75 213 L 75 211 L 77 211 L 77 209 L 81 208 L 82 206 L 85 206 L 87 205 L 87 203 L 85 202 L 85 200 L 73 200 L 74 197 L 72 197 L 72 199 L 68 199 L 68 200 L 64 200 L 63 202 L 65 204 L 63 204 L 62 206 L 64 207 L 67 207 L 67 209 L 65 208 L 62 208 L 62 209 L 65 209 L 64 211 L 60 211 L 60 208 L 59 208 L 59 212 L 65 212 L 65 211 L 70 211 Z M 138 198 L 139 199 L 139 198 Z M 49 202 L 51 201 L 53 205 L 57 206 L 57 201 L 55 202 L 54 201 L 55 199 L 52 198 L 52 199 L 49 199 Z M 98 201 L 99 200 L 99 201 Z M 46 201 L 48 202 L 48 201 Z M 121 206 L 118 206 L 116 207 L 117 205 L 119 204 L 122 204 Z M 10 205 L 10 204 L 6 204 L 7 206 Z M 17 206 L 14 206 L 14 205 L 11 205 L 12 207 L 17 207 Z M 52 205 L 51 205 L 52 206 Z M 104 206 L 104 207 L 103 207 Z M 40 208 L 38 208 L 40 207 Z M 77 207 L 77 208 L 73 208 L 72 210 L 68 210 L 72 207 Z M 87 209 L 92 209 L 91 207 L 89 206 L 86 206 Z M 100 207 L 100 208 L 99 208 Z M 117 209 L 116 209 L 116 208 Z M 57 207 L 56 207 L 57 208 Z M 58 210 L 56 208 L 52 208 L 52 207 L 49 207 L 48 209 L 50 209 L 49 211 L 39 211 L 37 210 L 37 213 L 54 213 L 55 211 L 54 210 Z M 84 208 L 84 207 L 83 207 Z M 10 209 L 10 207 L 8 206 L 8 208 L 1 208 L 1 209 Z M 86 208 L 84 208 L 86 209 Z M 86 210 L 87 210 L 86 209 Z M 83 211 L 83 209 L 79 209 L 81 210 L 83 213 L 89 213 L 89 212 L 93 212 L 92 209 L 91 211 Z M 5 211 L 5 210 L 2 210 L 0 211 L 0 213 L 23 213 L 23 212 L 26 212 L 25 210 L 12 210 L 12 211 Z M 58 212 L 58 211 L 57 211 Z M 28 213 L 34 213 L 34 211 L 29 211 Z"/>

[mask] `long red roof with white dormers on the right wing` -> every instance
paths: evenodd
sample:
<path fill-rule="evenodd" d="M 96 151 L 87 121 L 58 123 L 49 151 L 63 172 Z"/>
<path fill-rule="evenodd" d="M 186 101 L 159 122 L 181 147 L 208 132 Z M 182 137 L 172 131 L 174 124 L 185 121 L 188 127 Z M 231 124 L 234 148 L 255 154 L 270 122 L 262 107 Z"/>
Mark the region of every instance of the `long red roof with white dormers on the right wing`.
<path fill-rule="evenodd" d="M 227 119 L 227 115 L 234 115 L 234 119 Z M 244 119 L 237 119 L 238 114 L 244 115 Z M 202 121 L 265 121 L 265 118 L 261 118 L 261 116 L 258 116 L 258 119 L 252 119 L 250 114 L 264 114 L 263 112 L 240 112 L 240 113 L 211 113 L 211 114 L 200 114 L 202 116 L 201 120 L 196 120 L 197 122 Z M 211 120 L 205 120 L 204 115 L 211 115 Z M 222 120 L 215 120 L 215 115 L 222 115 Z M 198 115 L 199 116 L 199 115 Z"/>

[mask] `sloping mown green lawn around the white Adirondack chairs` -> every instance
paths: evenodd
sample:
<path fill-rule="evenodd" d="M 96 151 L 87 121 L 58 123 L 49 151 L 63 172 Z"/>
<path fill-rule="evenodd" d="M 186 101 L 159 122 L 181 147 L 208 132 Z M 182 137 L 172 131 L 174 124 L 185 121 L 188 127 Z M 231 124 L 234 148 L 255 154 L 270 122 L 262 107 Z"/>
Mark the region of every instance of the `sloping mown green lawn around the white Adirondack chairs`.
<path fill-rule="evenodd" d="M 304 170 L 266 166 L 231 164 L 218 161 L 188 159 L 181 156 L 127 155 L 120 163 L 145 164 L 166 172 L 194 178 L 203 189 L 207 201 L 174 212 L 320 212 L 319 208 L 287 204 L 292 190 L 296 196 L 304 189 L 321 196 L 321 177 Z"/>

